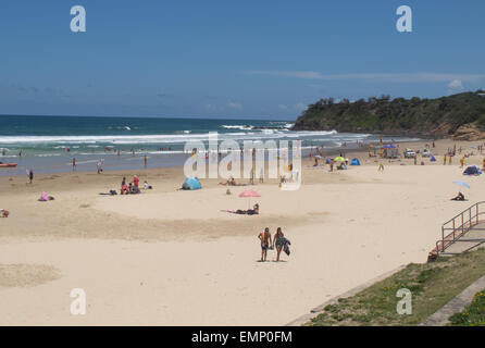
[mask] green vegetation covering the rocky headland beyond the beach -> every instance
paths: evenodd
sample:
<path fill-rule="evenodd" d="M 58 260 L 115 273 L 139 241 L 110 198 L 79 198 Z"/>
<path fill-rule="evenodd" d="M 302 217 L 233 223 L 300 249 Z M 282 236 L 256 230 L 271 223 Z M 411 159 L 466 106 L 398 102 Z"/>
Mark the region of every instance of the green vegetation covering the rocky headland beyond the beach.
<path fill-rule="evenodd" d="M 298 117 L 295 130 L 369 132 L 452 136 L 460 127 L 485 134 L 485 92 L 462 92 L 436 99 L 389 96 L 350 102 L 321 99 Z"/>

